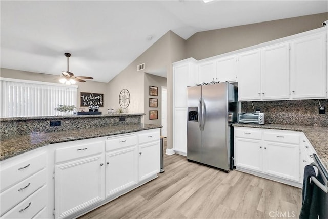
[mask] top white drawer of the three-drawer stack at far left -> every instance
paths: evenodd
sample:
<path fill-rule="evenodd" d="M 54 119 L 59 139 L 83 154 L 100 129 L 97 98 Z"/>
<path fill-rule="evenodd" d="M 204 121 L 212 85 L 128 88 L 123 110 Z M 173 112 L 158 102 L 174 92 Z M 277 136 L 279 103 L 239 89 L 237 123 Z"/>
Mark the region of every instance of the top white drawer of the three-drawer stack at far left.
<path fill-rule="evenodd" d="M 43 152 L 25 160 L 20 160 L 17 163 L 6 163 L 6 167 L 0 171 L 0 190 L 3 191 L 11 185 L 22 181 L 33 173 L 45 168 L 46 156 L 46 153 Z"/>

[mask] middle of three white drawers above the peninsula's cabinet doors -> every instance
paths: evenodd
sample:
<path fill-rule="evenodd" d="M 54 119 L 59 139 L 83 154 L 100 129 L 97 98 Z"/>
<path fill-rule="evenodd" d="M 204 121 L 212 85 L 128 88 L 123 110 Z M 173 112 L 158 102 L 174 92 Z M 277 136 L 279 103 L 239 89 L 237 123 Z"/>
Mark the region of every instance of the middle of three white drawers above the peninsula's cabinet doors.
<path fill-rule="evenodd" d="M 137 144 L 136 135 L 124 135 L 117 137 L 108 137 L 106 140 L 106 151 L 129 147 Z"/>

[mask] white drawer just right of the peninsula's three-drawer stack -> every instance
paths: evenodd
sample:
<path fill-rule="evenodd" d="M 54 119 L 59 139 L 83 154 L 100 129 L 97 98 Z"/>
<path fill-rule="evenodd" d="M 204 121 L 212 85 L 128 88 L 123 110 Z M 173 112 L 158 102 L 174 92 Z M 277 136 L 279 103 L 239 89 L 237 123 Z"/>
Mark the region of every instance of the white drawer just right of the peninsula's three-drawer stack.
<path fill-rule="evenodd" d="M 55 162 L 63 162 L 86 157 L 94 154 L 100 154 L 104 151 L 104 141 L 93 143 L 78 144 L 76 146 L 55 149 Z"/>

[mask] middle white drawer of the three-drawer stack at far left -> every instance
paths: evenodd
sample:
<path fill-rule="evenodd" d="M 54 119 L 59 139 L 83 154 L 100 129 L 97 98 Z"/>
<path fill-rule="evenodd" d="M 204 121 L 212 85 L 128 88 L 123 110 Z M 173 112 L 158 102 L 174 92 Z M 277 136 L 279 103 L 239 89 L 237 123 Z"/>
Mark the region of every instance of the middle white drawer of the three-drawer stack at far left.
<path fill-rule="evenodd" d="M 46 177 L 46 169 L 43 169 L 27 178 L 26 180 L 23 180 L 22 182 L 19 182 L 13 187 L 0 193 L 0 215 L 2 215 L 4 212 L 7 212 L 19 202 L 23 201 L 38 188 L 45 185 Z"/>

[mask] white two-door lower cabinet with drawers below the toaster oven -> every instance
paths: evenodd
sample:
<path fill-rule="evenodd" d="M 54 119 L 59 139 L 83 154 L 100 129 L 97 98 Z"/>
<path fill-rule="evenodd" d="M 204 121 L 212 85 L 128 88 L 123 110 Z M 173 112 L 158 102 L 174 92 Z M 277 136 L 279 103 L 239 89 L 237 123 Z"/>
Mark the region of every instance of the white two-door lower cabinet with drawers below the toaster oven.
<path fill-rule="evenodd" d="M 244 127 L 234 130 L 237 170 L 301 186 L 299 138 L 302 133 Z"/>

